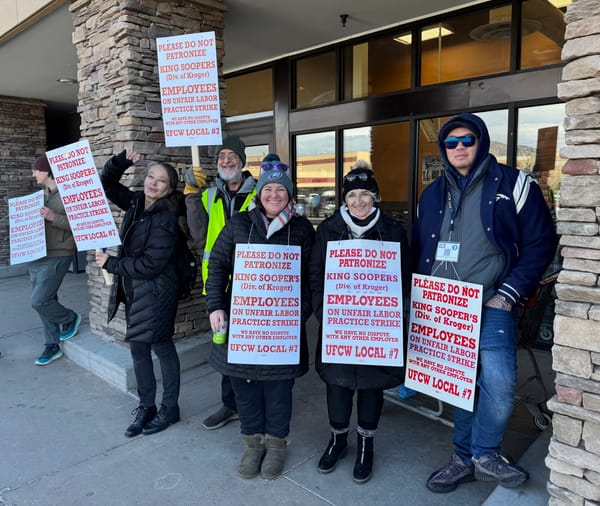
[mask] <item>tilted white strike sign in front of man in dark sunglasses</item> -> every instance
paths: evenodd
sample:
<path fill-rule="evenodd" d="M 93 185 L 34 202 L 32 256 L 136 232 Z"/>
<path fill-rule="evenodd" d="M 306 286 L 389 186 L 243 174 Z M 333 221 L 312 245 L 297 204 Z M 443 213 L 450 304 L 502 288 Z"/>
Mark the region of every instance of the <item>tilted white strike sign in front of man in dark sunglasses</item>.
<path fill-rule="evenodd" d="M 413 274 L 408 388 L 473 411 L 482 294 L 481 285 Z"/>

